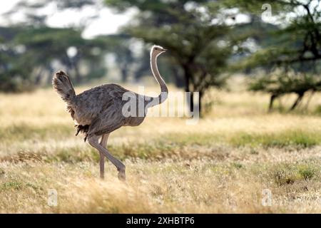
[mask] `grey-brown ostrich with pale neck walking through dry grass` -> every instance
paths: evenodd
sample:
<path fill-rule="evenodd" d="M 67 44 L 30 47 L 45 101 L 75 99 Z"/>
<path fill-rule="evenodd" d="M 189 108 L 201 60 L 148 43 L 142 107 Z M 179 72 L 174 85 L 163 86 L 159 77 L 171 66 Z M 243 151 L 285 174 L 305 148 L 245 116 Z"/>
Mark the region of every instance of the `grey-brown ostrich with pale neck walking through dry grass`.
<path fill-rule="evenodd" d="M 104 178 L 105 157 L 107 157 L 116 166 L 118 179 L 126 180 L 125 165 L 113 157 L 106 147 L 109 134 L 122 126 L 140 125 L 146 117 L 148 108 L 166 100 L 168 88 L 158 71 L 156 62 L 157 57 L 165 51 L 161 46 L 151 48 L 151 71 L 161 87 L 160 95 L 155 98 L 133 93 L 116 84 L 103 84 L 76 95 L 73 84 L 66 73 L 58 71 L 54 75 L 53 87 L 66 103 L 66 109 L 76 124 L 76 135 L 79 132 L 83 133 L 85 142 L 87 140 L 99 152 L 101 179 Z M 136 101 L 143 100 L 143 115 L 123 115 L 123 105 L 126 103 L 126 100 L 123 100 L 125 93 L 133 95 Z"/>

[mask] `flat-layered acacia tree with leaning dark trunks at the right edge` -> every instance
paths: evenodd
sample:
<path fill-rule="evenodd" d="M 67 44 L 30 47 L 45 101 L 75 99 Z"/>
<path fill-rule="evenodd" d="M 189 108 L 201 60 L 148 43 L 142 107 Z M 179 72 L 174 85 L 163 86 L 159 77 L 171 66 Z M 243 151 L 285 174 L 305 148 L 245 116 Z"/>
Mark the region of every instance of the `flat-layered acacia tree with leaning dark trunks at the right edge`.
<path fill-rule="evenodd" d="M 231 8 L 238 7 L 245 14 L 258 15 L 262 13 L 261 6 L 265 1 L 227 0 L 225 4 Z M 264 66 L 267 70 L 267 76 L 255 78 L 250 89 L 271 94 L 269 110 L 275 98 L 296 93 L 297 99 L 290 108 L 293 110 L 307 91 L 320 90 L 320 76 L 316 76 L 320 73 L 317 65 L 321 60 L 320 0 L 273 0 L 269 4 L 275 16 L 271 21 L 277 26 L 277 30 L 273 29 L 268 36 L 273 42 L 261 45 L 260 50 L 245 59 L 243 66 Z M 278 77 L 271 73 L 275 68 L 282 69 Z"/>

